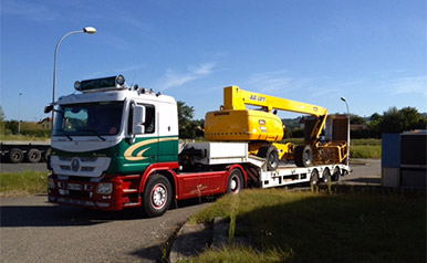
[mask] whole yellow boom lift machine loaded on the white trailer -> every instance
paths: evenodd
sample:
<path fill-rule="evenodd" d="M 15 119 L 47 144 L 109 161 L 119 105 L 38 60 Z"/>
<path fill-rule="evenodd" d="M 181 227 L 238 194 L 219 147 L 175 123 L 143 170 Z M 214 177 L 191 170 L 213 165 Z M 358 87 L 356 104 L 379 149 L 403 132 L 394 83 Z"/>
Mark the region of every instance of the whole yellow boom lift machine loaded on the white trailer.
<path fill-rule="evenodd" d="M 246 105 L 259 106 L 247 109 Z M 280 144 L 284 126 L 277 111 L 310 114 L 314 118 L 305 123 L 303 145 Z M 294 160 L 299 167 L 320 164 L 344 164 L 347 144 L 321 141 L 327 109 L 306 103 L 247 92 L 238 86 L 223 90 L 223 106 L 206 114 L 205 138 L 211 141 L 248 141 L 249 152 L 265 158 L 268 169 L 275 170 L 279 159 Z"/>

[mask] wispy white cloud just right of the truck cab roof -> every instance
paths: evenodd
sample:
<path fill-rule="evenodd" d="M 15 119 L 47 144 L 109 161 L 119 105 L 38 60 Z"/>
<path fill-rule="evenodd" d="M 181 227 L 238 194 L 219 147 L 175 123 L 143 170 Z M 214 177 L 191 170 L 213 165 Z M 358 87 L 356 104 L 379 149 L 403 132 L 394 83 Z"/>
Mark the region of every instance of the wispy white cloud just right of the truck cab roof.
<path fill-rule="evenodd" d="M 166 91 L 202 78 L 210 75 L 214 72 L 214 67 L 215 63 L 205 63 L 199 66 L 189 66 L 186 73 L 177 73 L 169 69 L 166 71 L 165 77 L 156 85 L 157 90 Z"/>

